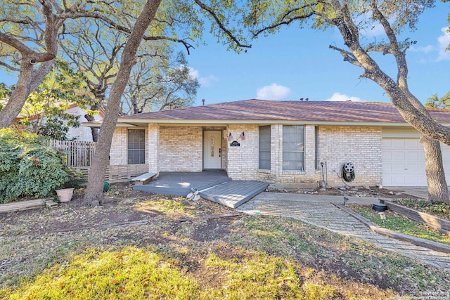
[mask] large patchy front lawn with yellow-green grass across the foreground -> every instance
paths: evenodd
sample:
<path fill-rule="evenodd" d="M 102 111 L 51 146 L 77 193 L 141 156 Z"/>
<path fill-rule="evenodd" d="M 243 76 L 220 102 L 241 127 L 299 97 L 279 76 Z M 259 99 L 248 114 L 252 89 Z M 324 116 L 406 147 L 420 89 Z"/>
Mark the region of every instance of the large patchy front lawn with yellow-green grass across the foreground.
<path fill-rule="evenodd" d="M 123 189 L 113 186 L 103 207 L 0 215 L 0 299 L 390 299 L 450 289 L 443 270 L 301 221 L 205 219 L 236 211 Z"/>

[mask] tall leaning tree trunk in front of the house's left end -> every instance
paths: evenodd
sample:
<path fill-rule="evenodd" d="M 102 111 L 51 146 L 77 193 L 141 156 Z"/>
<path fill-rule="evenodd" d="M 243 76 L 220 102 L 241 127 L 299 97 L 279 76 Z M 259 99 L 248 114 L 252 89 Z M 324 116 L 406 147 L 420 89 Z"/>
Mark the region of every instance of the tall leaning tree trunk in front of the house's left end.
<path fill-rule="evenodd" d="M 103 119 L 103 124 L 101 125 L 101 134 L 98 138 L 94 161 L 89 169 L 88 184 L 84 195 L 84 203 L 86 205 L 95 206 L 102 203 L 103 178 L 105 178 L 113 133 L 117 117 L 119 116 L 120 100 L 127 86 L 131 68 L 136 63 L 135 56 L 143 34 L 146 32 L 150 22 L 155 18 L 155 13 L 158 11 L 160 3 L 161 0 L 148 0 L 146 2 L 129 35 L 127 44 L 125 44 L 119 71 L 110 91 L 108 107 L 106 108 L 105 119 Z"/>

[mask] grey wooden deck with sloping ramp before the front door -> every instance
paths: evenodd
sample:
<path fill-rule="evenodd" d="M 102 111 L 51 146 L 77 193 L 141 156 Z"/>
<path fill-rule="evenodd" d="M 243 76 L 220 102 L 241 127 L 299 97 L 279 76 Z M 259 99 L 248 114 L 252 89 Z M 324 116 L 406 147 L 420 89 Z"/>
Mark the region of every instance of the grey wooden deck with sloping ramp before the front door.
<path fill-rule="evenodd" d="M 200 196 L 227 207 L 236 208 L 262 193 L 269 183 L 261 181 L 232 181 L 224 170 L 202 172 L 160 172 L 158 178 L 134 190 L 186 197 L 191 190 Z"/>

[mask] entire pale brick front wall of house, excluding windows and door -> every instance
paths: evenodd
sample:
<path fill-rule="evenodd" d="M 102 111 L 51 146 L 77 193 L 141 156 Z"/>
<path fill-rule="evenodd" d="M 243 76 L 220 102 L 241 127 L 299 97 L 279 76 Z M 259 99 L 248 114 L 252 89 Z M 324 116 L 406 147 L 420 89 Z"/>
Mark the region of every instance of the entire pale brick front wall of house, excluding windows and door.
<path fill-rule="evenodd" d="M 321 180 L 316 170 L 315 136 L 313 125 L 304 126 L 304 171 L 283 171 L 283 125 L 271 125 L 271 169 L 259 170 L 259 126 L 230 124 L 228 133 L 238 140 L 245 132 L 240 147 L 231 147 L 222 139 L 222 169 L 239 180 L 260 180 L 276 183 L 315 183 Z M 223 130 L 224 127 L 207 129 Z M 327 162 L 328 184 L 342 185 L 333 172 L 341 174 L 342 165 L 353 162 L 356 179 L 351 184 L 381 183 L 382 128 L 368 126 L 319 126 L 319 161 Z M 149 171 L 202 171 L 203 127 L 158 126 L 146 129 L 146 157 Z M 110 164 L 127 164 L 127 128 L 116 128 L 110 151 Z M 319 166 L 320 167 L 320 166 Z"/>

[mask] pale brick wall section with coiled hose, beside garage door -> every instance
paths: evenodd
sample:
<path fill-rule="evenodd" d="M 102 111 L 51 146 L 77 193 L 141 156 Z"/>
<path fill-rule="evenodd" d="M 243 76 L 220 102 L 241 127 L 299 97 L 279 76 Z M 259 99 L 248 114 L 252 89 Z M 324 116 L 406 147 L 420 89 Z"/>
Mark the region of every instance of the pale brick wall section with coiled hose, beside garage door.
<path fill-rule="evenodd" d="M 349 185 L 381 183 L 382 134 L 379 126 L 320 126 L 319 157 L 328 165 L 328 185 L 343 184 L 333 170 L 341 176 L 347 162 L 353 162 L 356 174 Z"/>

